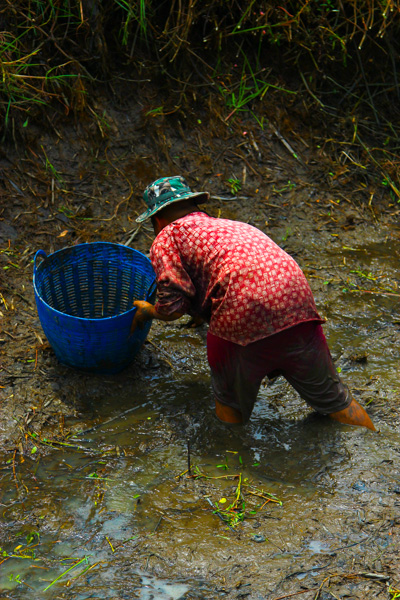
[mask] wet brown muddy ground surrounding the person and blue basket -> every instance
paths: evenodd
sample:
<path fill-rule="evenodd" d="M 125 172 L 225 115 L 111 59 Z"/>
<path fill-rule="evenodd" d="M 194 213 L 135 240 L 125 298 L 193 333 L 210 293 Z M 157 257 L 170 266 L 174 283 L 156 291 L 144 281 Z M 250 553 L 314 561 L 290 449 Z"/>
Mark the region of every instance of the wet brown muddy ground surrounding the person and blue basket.
<path fill-rule="evenodd" d="M 183 131 L 176 116 L 149 123 L 138 106 L 107 114 L 107 138 L 87 124 L 36 132 L 33 149 L 47 148 L 62 183 L 29 151 L 1 159 L 2 598 L 390 598 L 400 587 L 399 205 L 382 191 L 368 201 L 373 178 L 329 175 L 333 159 L 300 121 L 306 146 L 288 139 L 302 163 L 245 119 L 229 129 L 208 116 L 205 127 L 188 111 Z M 260 227 L 297 260 L 377 433 L 313 414 L 282 378 L 264 382 L 248 425 L 225 427 L 206 329 L 186 318 L 153 323 L 118 375 L 57 361 L 34 305 L 34 253 L 94 240 L 147 253 L 152 231 L 134 221 L 141 191 L 178 172 L 211 192 L 211 214 Z M 228 524 L 239 486 L 241 517 Z"/>

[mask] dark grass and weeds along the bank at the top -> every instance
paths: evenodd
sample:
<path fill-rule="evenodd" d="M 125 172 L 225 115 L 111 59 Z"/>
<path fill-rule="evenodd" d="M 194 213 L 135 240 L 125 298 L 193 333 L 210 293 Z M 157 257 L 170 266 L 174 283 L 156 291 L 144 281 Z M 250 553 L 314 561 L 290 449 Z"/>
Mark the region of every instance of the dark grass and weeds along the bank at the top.
<path fill-rule="evenodd" d="M 398 1 L 3 0 L 0 23 L 3 142 L 22 146 L 49 115 L 101 131 L 98 86 L 152 80 L 165 102 L 147 116 L 212 95 L 226 122 L 246 112 L 263 129 L 301 104 L 329 124 L 327 151 L 346 144 L 341 160 L 400 199 Z"/>

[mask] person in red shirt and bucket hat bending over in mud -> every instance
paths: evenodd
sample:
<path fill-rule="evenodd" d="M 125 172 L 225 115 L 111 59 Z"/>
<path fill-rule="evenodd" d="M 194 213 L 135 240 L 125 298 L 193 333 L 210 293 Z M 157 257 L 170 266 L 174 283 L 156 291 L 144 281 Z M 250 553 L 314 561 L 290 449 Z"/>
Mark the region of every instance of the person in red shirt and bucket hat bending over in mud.
<path fill-rule="evenodd" d="M 259 229 L 214 218 L 181 176 L 144 192 L 156 238 L 150 258 L 157 303 L 136 301 L 131 332 L 144 321 L 184 314 L 206 321 L 216 415 L 246 423 L 264 377 L 282 375 L 319 413 L 375 430 L 332 361 L 310 286 L 300 267 Z"/>

